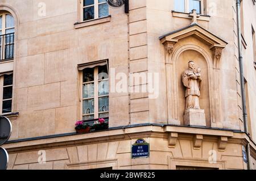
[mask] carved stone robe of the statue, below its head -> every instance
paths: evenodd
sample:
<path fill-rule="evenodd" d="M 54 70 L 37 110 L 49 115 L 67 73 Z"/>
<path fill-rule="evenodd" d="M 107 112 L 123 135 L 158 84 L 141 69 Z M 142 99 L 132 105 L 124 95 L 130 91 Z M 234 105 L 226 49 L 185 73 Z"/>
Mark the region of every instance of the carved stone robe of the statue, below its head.
<path fill-rule="evenodd" d="M 200 89 L 202 86 L 201 78 L 192 79 L 189 77 L 189 74 L 194 74 L 193 70 L 185 70 L 182 74 L 182 82 L 183 85 L 186 87 L 185 91 L 185 98 L 186 98 L 186 110 L 187 109 L 196 109 L 200 110 L 199 106 L 199 96 L 200 96 Z"/>

